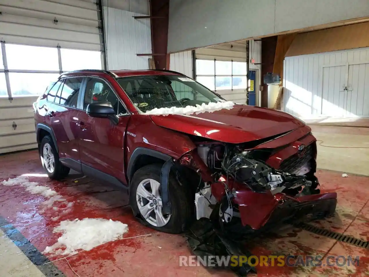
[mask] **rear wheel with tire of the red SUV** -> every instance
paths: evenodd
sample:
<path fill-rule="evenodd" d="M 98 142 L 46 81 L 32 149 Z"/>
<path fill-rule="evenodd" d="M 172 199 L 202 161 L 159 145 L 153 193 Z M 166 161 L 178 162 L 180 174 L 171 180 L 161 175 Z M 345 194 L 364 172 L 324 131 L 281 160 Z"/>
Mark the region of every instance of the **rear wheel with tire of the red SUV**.
<path fill-rule="evenodd" d="M 63 179 L 69 174 L 70 168 L 60 162 L 58 151 L 50 136 L 42 138 L 40 153 L 42 167 L 50 179 Z M 50 160 L 51 163 L 49 163 Z"/>

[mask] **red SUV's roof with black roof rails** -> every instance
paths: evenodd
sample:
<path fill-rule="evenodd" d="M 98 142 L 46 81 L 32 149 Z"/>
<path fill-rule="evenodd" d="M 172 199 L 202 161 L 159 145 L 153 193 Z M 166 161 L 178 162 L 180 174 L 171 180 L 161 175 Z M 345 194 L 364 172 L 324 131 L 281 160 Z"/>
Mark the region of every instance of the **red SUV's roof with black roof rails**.
<path fill-rule="evenodd" d="M 184 76 L 184 74 L 176 72 L 176 71 L 170 71 L 170 70 L 161 70 L 161 69 L 145 69 L 145 70 L 95 70 L 95 69 L 82 69 L 82 70 L 76 70 L 76 71 L 69 71 L 62 73 L 59 78 L 65 77 L 65 76 L 86 76 L 86 75 L 95 75 L 95 76 L 104 76 L 105 74 L 108 74 L 112 76 L 113 78 L 119 78 L 119 77 L 127 77 L 127 76 L 145 76 L 145 75 L 181 75 Z"/>

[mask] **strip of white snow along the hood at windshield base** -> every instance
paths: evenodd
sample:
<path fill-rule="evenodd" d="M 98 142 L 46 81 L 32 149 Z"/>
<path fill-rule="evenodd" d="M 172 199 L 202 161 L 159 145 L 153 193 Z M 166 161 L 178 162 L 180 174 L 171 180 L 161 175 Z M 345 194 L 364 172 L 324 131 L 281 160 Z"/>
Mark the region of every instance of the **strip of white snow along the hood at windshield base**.
<path fill-rule="evenodd" d="M 144 114 L 152 115 L 168 115 L 168 114 L 192 114 L 192 113 L 204 113 L 204 112 L 215 112 L 221 109 L 232 109 L 235 103 L 232 101 L 222 101 L 222 102 L 209 102 L 208 104 L 202 103 L 196 106 L 186 106 L 186 107 L 170 107 L 170 108 L 155 108 L 145 112 Z"/>

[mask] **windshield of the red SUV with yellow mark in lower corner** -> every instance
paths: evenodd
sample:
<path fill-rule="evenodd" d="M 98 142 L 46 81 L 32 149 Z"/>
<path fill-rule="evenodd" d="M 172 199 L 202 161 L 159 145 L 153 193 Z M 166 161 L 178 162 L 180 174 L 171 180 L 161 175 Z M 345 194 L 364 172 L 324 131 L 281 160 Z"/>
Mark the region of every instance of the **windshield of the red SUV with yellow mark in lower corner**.
<path fill-rule="evenodd" d="M 186 76 L 146 75 L 117 78 L 138 110 L 204 106 L 223 102 L 215 93 Z"/>

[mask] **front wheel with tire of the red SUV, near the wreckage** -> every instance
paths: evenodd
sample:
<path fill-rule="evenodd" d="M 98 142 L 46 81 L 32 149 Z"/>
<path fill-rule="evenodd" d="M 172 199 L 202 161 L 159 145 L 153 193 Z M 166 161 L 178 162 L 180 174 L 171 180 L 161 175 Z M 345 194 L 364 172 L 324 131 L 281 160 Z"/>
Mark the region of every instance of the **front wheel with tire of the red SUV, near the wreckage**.
<path fill-rule="evenodd" d="M 190 201 L 188 190 L 186 187 L 184 187 L 184 185 L 181 185 L 176 180 L 173 174 L 170 174 L 169 176 L 169 201 L 172 206 L 172 214 L 170 215 L 169 219 L 168 217 L 163 216 L 163 219 L 159 220 L 159 222 L 155 219 L 156 224 L 153 222 L 153 215 L 155 214 L 155 217 L 157 217 L 157 212 L 161 213 L 161 197 L 160 195 L 155 197 L 153 190 L 151 190 L 151 195 L 154 196 L 154 199 L 158 199 L 158 205 L 154 205 L 154 209 L 150 213 L 151 216 L 149 216 L 149 219 L 146 219 L 141 213 L 141 211 L 146 211 L 150 204 L 154 204 L 154 199 L 152 199 L 151 203 L 148 201 L 148 199 L 146 199 L 146 201 L 145 199 L 142 199 L 140 196 L 140 194 L 142 194 L 142 186 L 150 188 L 152 187 L 152 184 L 155 184 L 156 182 L 156 185 L 160 187 L 159 181 L 161 168 L 161 164 L 150 164 L 140 168 L 135 172 L 130 184 L 131 208 L 134 215 L 141 219 L 141 223 L 152 229 L 172 234 L 182 233 L 187 229 L 193 219 L 192 211 L 194 207 L 193 201 Z M 147 181 L 148 179 L 154 180 L 155 182 Z M 150 192 L 149 189 L 147 189 L 147 191 Z M 157 191 L 160 193 L 160 189 L 157 189 Z M 141 211 L 139 206 L 141 207 Z M 144 207 L 146 207 L 146 210 L 144 210 Z M 159 218 L 161 217 L 159 216 Z M 165 223 L 166 220 L 167 222 Z M 165 225 L 162 225 L 162 223 L 165 223 Z"/>

